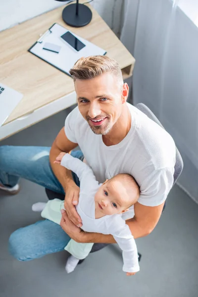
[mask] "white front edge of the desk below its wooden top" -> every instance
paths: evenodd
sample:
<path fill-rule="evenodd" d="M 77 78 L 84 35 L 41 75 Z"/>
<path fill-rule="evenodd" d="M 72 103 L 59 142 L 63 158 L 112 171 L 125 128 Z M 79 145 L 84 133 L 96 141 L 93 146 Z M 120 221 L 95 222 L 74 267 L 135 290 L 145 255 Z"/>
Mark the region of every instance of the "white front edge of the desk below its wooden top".
<path fill-rule="evenodd" d="M 76 93 L 64 96 L 0 127 L 0 140 L 26 129 L 76 103 Z"/>

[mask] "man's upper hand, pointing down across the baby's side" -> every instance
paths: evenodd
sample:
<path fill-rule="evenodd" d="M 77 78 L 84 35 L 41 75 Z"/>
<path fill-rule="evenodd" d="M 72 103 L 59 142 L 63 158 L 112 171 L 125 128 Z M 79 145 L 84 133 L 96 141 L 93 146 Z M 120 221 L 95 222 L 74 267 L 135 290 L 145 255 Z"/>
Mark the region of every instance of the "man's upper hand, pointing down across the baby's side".
<path fill-rule="evenodd" d="M 82 220 L 76 211 L 75 205 L 78 204 L 80 188 L 73 182 L 65 188 L 64 207 L 70 221 L 78 227 L 82 226 Z"/>

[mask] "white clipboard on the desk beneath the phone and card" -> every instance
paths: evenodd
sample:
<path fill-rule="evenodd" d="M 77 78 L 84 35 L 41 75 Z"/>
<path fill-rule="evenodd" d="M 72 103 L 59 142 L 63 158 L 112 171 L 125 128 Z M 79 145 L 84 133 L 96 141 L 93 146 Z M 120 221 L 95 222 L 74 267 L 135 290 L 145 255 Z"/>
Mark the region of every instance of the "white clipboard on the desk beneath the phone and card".
<path fill-rule="evenodd" d="M 93 43 L 87 41 L 84 38 L 74 34 L 82 43 L 85 44 L 85 47 L 79 51 L 75 51 L 71 49 L 71 47 L 61 41 L 60 36 L 68 32 L 69 30 L 64 28 L 63 26 L 54 23 L 38 40 L 28 49 L 29 52 L 36 55 L 40 59 L 46 61 L 56 69 L 62 71 L 63 73 L 69 75 L 69 70 L 73 67 L 75 62 L 81 57 L 88 57 L 90 55 L 105 55 L 106 51 L 104 49 L 99 48 Z M 45 43 L 51 43 L 55 46 L 60 47 L 60 51 L 58 53 L 45 50 Z"/>

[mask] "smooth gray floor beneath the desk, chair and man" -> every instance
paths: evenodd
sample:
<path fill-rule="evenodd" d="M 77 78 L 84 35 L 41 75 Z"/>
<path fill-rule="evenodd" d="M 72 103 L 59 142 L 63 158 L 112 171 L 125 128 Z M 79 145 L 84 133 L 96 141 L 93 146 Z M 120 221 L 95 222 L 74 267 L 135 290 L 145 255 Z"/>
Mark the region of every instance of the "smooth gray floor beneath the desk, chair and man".
<path fill-rule="evenodd" d="M 50 146 L 65 116 L 62 111 L 0 145 Z M 122 272 L 116 245 L 90 254 L 69 275 L 64 251 L 29 262 L 13 259 L 7 251 L 10 233 L 39 220 L 31 205 L 46 200 L 42 187 L 25 180 L 17 196 L 0 192 L 0 297 L 198 297 L 198 205 L 177 186 L 155 230 L 137 240 L 141 271 L 131 277 Z"/>

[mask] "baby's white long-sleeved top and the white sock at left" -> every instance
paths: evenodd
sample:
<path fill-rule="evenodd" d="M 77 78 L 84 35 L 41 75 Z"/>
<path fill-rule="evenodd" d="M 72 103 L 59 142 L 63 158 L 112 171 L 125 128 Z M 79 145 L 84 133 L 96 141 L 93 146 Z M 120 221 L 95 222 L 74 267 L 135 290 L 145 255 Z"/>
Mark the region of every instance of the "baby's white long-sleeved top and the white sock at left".
<path fill-rule="evenodd" d="M 124 261 L 123 271 L 138 272 L 140 267 L 136 243 L 129 226 L 126 224 L 121 214 L 105 215 L 99 219 L 95 218 L 94 197 L 101 184 L 96 181 L 92 169 L 86 163 L 72 157 L 68 153 L 62 158 L 61 165 L 76 173 L 80 180 L 80 196 L 76 210 L 82 219 L 81 229 L 86 232 L 111 234 L 118 246 L 122 249 Z M 55 205 L 54 203 L 56 203 L 58 199 L 54 200 L 47 203 L 48 207 L 43 210 L 42 216 L 50 220 L 53 216 L 52 220 L 59 223 L 60 216 L 58 216 L 57 220 L 54 217 L 57 213 L 57 209 L 53 209 L 53 206 L 49 206 L 52 201 L 54 201 L 52 204 Z M 63 205 L 63 203 L 64 201 L 61 201 L 61 205 Z M 60 206 L 58 211 L 60 212 Z"/>

